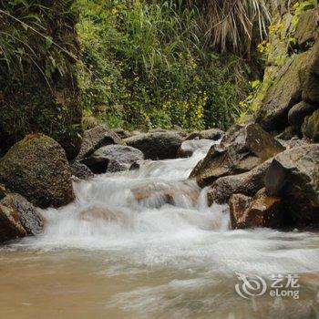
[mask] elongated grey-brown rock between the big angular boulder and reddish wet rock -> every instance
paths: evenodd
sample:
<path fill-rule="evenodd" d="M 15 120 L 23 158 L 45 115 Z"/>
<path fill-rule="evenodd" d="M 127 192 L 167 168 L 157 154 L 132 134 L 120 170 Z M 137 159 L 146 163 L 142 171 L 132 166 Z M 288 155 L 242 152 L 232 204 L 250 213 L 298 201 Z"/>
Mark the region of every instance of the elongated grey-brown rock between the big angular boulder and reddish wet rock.
<path fill-rule="evenodd" d="M 228 202 L 232 194 L 253 196 L 264 187 L 264 177 L 272 160 L 266 160 L 256 168 L 238 175 L 230 175 L 215 180 L 207 191 L 208 204 Z"/>

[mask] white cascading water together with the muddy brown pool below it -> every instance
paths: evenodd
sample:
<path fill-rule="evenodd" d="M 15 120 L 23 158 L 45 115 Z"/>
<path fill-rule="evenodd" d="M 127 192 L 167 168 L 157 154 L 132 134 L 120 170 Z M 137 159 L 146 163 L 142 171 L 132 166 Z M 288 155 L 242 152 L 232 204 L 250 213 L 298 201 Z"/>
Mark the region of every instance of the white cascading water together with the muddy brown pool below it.
<path fill-rule="evenodd" d="M 319 236 L 230 231 L 228 207 L 208 207 L 188 180 L 211 143 L 198 146 L 189 159 L 76 182 L 77 201 L 43 211 L 41 235 L 0 250 L 0 317 L 318 316 Z M 298 273 L 303 289 L 246 300 L 236 273 Z"/>

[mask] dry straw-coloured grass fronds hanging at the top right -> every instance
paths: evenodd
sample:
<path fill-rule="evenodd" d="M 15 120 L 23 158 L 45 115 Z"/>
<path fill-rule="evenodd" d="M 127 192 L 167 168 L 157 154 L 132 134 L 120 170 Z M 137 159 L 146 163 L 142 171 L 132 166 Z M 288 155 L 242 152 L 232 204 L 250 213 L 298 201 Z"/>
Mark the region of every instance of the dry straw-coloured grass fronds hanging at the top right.
<path fill-rule="evenodd" d="M 267 36 L 271 0 L 187 0 L 201 11 L 207 44 L 221 53 L 250 55 L 252 44 Z"/>

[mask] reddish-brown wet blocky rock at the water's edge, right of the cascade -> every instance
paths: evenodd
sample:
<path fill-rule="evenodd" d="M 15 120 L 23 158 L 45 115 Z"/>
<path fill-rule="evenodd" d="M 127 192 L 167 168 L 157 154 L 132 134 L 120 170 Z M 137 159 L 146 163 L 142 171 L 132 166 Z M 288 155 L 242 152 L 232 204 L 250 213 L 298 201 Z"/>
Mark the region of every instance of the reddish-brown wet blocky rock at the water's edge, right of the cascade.
<path fill-rule="evenodd" d="M 281 228 L 283 225 L 281 199 L 265 195 L 264 190 L 253 198 L 234 194 L 229 204 L 232 229 Z"/>

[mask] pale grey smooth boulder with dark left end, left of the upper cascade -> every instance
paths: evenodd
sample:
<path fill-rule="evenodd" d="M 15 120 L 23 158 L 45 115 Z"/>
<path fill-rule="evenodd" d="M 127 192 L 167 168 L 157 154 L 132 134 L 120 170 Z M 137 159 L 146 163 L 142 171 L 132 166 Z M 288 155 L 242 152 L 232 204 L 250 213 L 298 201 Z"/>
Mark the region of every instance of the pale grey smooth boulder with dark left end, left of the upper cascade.
<path fill-rule="evenodd" d="M 126 145 L 108 145 L 96 150 L 90 157 L 82 160 L 96 174 L 129 170 L 132 164 L 144 159 L 139 149 Z"/>

